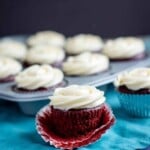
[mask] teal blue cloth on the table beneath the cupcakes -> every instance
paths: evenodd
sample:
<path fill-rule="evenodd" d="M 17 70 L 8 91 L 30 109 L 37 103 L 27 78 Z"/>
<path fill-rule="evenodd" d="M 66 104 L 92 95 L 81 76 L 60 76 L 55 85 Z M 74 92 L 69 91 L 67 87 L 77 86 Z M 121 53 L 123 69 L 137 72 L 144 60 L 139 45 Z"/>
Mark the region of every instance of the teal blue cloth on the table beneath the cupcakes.
<path fill-rule="evenodd" d="M 150 119 L 134 118 L 119 105 L 112 85 L 107 86 L 107 103 L 116 123 L 96 143 L 79 150 L 135 150 L 150 145 Z M 0 102 L 0 150 L 55 150 L 35 129 L 35 118 L 24 115 L 16 103 Z"/>

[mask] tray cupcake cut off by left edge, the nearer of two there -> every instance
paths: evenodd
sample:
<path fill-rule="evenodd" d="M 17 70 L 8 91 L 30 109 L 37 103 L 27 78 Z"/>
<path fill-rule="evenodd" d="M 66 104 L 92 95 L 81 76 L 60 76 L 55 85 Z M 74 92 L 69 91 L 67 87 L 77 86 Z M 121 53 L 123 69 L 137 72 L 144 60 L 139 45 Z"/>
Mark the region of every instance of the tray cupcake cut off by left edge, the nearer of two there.
<path fill-rule="evenodd" d="M 21 64 L 16 60 L 0 56 L 0 83 L 13 81 L 21 69 Z"/>

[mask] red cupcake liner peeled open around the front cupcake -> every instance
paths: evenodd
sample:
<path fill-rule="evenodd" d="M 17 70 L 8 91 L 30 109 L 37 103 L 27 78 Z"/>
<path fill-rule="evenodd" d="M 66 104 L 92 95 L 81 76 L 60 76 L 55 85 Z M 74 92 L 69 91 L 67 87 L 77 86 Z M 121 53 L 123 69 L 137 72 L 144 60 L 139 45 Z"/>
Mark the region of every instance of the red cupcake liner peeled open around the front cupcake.
<path fill-rule="evenodd" d="M 98 140 L 102 136 L 102 134 L 104 134 L 106 130 L 109 129 L 115 122 L 115 117 L 112 114 L 111 109 L 106 104 L 103 104 L 100 109 L 100 124 L 97 128 L 92 131 L 86 132 L 86 134 L 84 135 L 76 137 L 65 137 L 60 136 L 56 131 L 52 129 L 53 108 L 50 105 L 47 105 L 43 109 L 41 109 L 36 116 L 37 131 L 45 142 L 49 142 L 50 145 L 53 145 L 56 148 L 71 150 L 77 147 L 91 144 Z M 92 109 L 90 109 L 90 111 L 91 110 Z"/>

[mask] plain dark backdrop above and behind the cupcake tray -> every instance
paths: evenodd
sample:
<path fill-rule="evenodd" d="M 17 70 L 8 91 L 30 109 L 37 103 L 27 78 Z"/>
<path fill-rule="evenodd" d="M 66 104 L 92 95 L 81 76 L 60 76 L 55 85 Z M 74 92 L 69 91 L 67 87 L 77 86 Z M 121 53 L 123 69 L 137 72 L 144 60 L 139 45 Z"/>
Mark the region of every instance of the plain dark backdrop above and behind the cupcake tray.
<path fill-rule="evenodd" d="M 150 0 L 0 0 L 0 36 L 48 29 L 67 36 L 150 34 Z"/>

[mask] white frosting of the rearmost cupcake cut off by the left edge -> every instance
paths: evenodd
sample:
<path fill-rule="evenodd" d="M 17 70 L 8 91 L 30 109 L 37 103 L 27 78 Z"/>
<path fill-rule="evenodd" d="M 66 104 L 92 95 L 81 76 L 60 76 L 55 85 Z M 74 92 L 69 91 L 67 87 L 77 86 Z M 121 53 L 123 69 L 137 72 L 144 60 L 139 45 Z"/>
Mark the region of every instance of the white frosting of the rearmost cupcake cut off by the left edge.
<path fill-rule="evenodd" d="M 26 56 L 26 46 L 18 41 L 4 39 L 0 41 L 0 55 L 9 56 L 23 61 Z"/>

